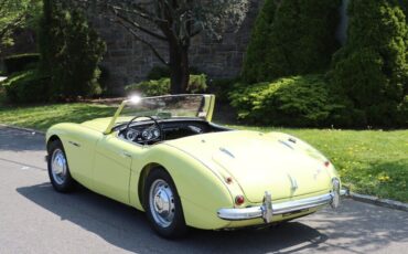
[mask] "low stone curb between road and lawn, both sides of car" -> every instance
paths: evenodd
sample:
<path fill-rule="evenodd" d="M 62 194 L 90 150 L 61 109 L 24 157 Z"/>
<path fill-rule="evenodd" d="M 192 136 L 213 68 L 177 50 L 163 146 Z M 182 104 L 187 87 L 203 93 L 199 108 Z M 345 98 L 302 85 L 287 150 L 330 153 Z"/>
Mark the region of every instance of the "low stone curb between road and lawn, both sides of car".
<path fill-rule="evenodd" d="M 39 134 L 45 136 L 44 131 L 36 130 L 36 129 L 30 129 L 30 128 L 22 128 L 22 127 L 17 127 L 17 126 L 10 126 L 10 125 L 3 125 L 0 124 L 0 127 L 9 128 L 9 129 L 15 129 L 15 130 L 21 130 L 21 131 L 26 131 L 32 135 Z M 375 204 L 378 207 L 384 207 L 384 208 L 389 208 L 389 209 L 395 209 L 395 210 L 400 210 L 408 212 L 408 203 L 395 201 L 395 200 L 389 200 L 389 199 L 379 199 L 374 195 L 366 195 L 366 194 L 358 194 L 355 192 L 351 192 L 350 190 L 344 190 L 342 193 L 343 197 L 345 198 L 351 198 L 355 201 L 359 201 L 363 203 L 369 203 L 369 204 Z"/>

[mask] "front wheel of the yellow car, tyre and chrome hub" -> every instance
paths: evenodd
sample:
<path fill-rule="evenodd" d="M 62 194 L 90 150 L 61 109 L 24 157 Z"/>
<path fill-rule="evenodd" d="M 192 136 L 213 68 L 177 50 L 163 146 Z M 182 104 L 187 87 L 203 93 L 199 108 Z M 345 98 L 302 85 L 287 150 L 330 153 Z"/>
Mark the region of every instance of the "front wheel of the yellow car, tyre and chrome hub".
<path fill-rule="evenodd" d="M 68 161 L 61 140 L 54 140 L 49 146 L 49 176 L 56 191 L 68 192 L 74 189 L 75 180 L 71 177 Z"/>

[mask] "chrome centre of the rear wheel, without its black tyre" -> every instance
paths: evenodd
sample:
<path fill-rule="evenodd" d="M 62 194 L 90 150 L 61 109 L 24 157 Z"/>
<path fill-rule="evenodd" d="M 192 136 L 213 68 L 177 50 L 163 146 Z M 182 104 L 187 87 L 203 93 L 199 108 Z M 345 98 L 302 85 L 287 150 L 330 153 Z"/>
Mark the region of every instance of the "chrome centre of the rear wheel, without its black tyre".
<path fill-rule="evenodd" d="M 164 180 L 158 179 L 151 184 L 149 204 L 155 223 L 162 227 L 170 226 L 174 219 L 174 195 Z"/>

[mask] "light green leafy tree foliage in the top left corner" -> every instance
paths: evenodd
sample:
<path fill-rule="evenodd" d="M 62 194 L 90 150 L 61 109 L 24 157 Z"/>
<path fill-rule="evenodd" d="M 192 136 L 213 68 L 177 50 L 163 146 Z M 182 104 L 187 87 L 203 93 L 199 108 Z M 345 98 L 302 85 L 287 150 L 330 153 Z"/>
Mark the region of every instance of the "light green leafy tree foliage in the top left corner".
<path fill-rule="evenodd" d="M 32 9 L 39 0 L 0 0 L 0 52 L 3 46 L 12 45 L 12 33 L 17 28 L 24 27 L 32 17 Z M 34 8 L 36 10 L 36 8 Z"/>

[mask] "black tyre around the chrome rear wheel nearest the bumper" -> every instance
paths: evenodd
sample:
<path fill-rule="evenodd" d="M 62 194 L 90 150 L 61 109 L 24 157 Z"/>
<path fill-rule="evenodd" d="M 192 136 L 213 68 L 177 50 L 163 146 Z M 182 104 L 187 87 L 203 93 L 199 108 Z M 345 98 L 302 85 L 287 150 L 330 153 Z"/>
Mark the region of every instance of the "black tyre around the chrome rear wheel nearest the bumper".
<path fill-rule="evenodd" d="M 163 225 L 162 223 L 158 222 L 158 219 L 157 219 L 158 212 L 154 212 L 157 211 L 154 210 L 157 207 L 152 208 L 152 205 L 157 205 L 157 203 L 154 202 L 152 204 L 150 200 L 150 197 L 151 197 L 150 192 L 152 191 L 152 193 L 154 193 L 154 191 L 151 189 L 154 188 L 154 186 L 158 182 L 167 183 L 165 186 L 163 186 L 163 188 L 168 188 L 168 190 L 170 190 L 172 193 L 171 203 L 174 208 L 173 209 L 174 211 L 173 211 L 173 218 L 169 221 L 165 221 L 165 223 L 169 223 L 168 225 Z M 149 219 L 150 225 L 160 236 L 165 237 L 165 239 L 180 239 L 180 237 L 185 236 L 185 234 L 187 233 L 187 226 L 185 224 L 183 208 L 180 201 L 180 195 L 178 193 L 178 190 L 175 188 L 175 184 L 172 178 L 164 169 L 161 169 L 161 168 L 153 169 L 147 177 L 146 182 L 144 182 L 144 190 L 143 190 L 143 203 L 144 203 L 146 214 Z M 153 213 L 155 213 L 155 215 Z M 161 215 L 159 216 L 161 218 Z"/>

